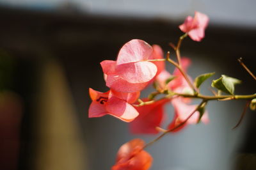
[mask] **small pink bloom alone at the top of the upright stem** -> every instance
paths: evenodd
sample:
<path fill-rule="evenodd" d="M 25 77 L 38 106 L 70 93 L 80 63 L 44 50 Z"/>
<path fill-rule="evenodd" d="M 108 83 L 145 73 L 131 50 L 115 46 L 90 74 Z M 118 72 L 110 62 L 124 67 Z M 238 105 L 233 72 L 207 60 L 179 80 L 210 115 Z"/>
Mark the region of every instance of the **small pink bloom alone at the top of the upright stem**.
<path fill-rule="evenodd" d="M 188 33 L 189 37 L 200 42 L 204 38 L 205 28 L 207 27 L 209 18 L 204 13 L 195 12 L 195 17 L 188 16 L 184 23 L 179 26 L 180 30 Z"/>

